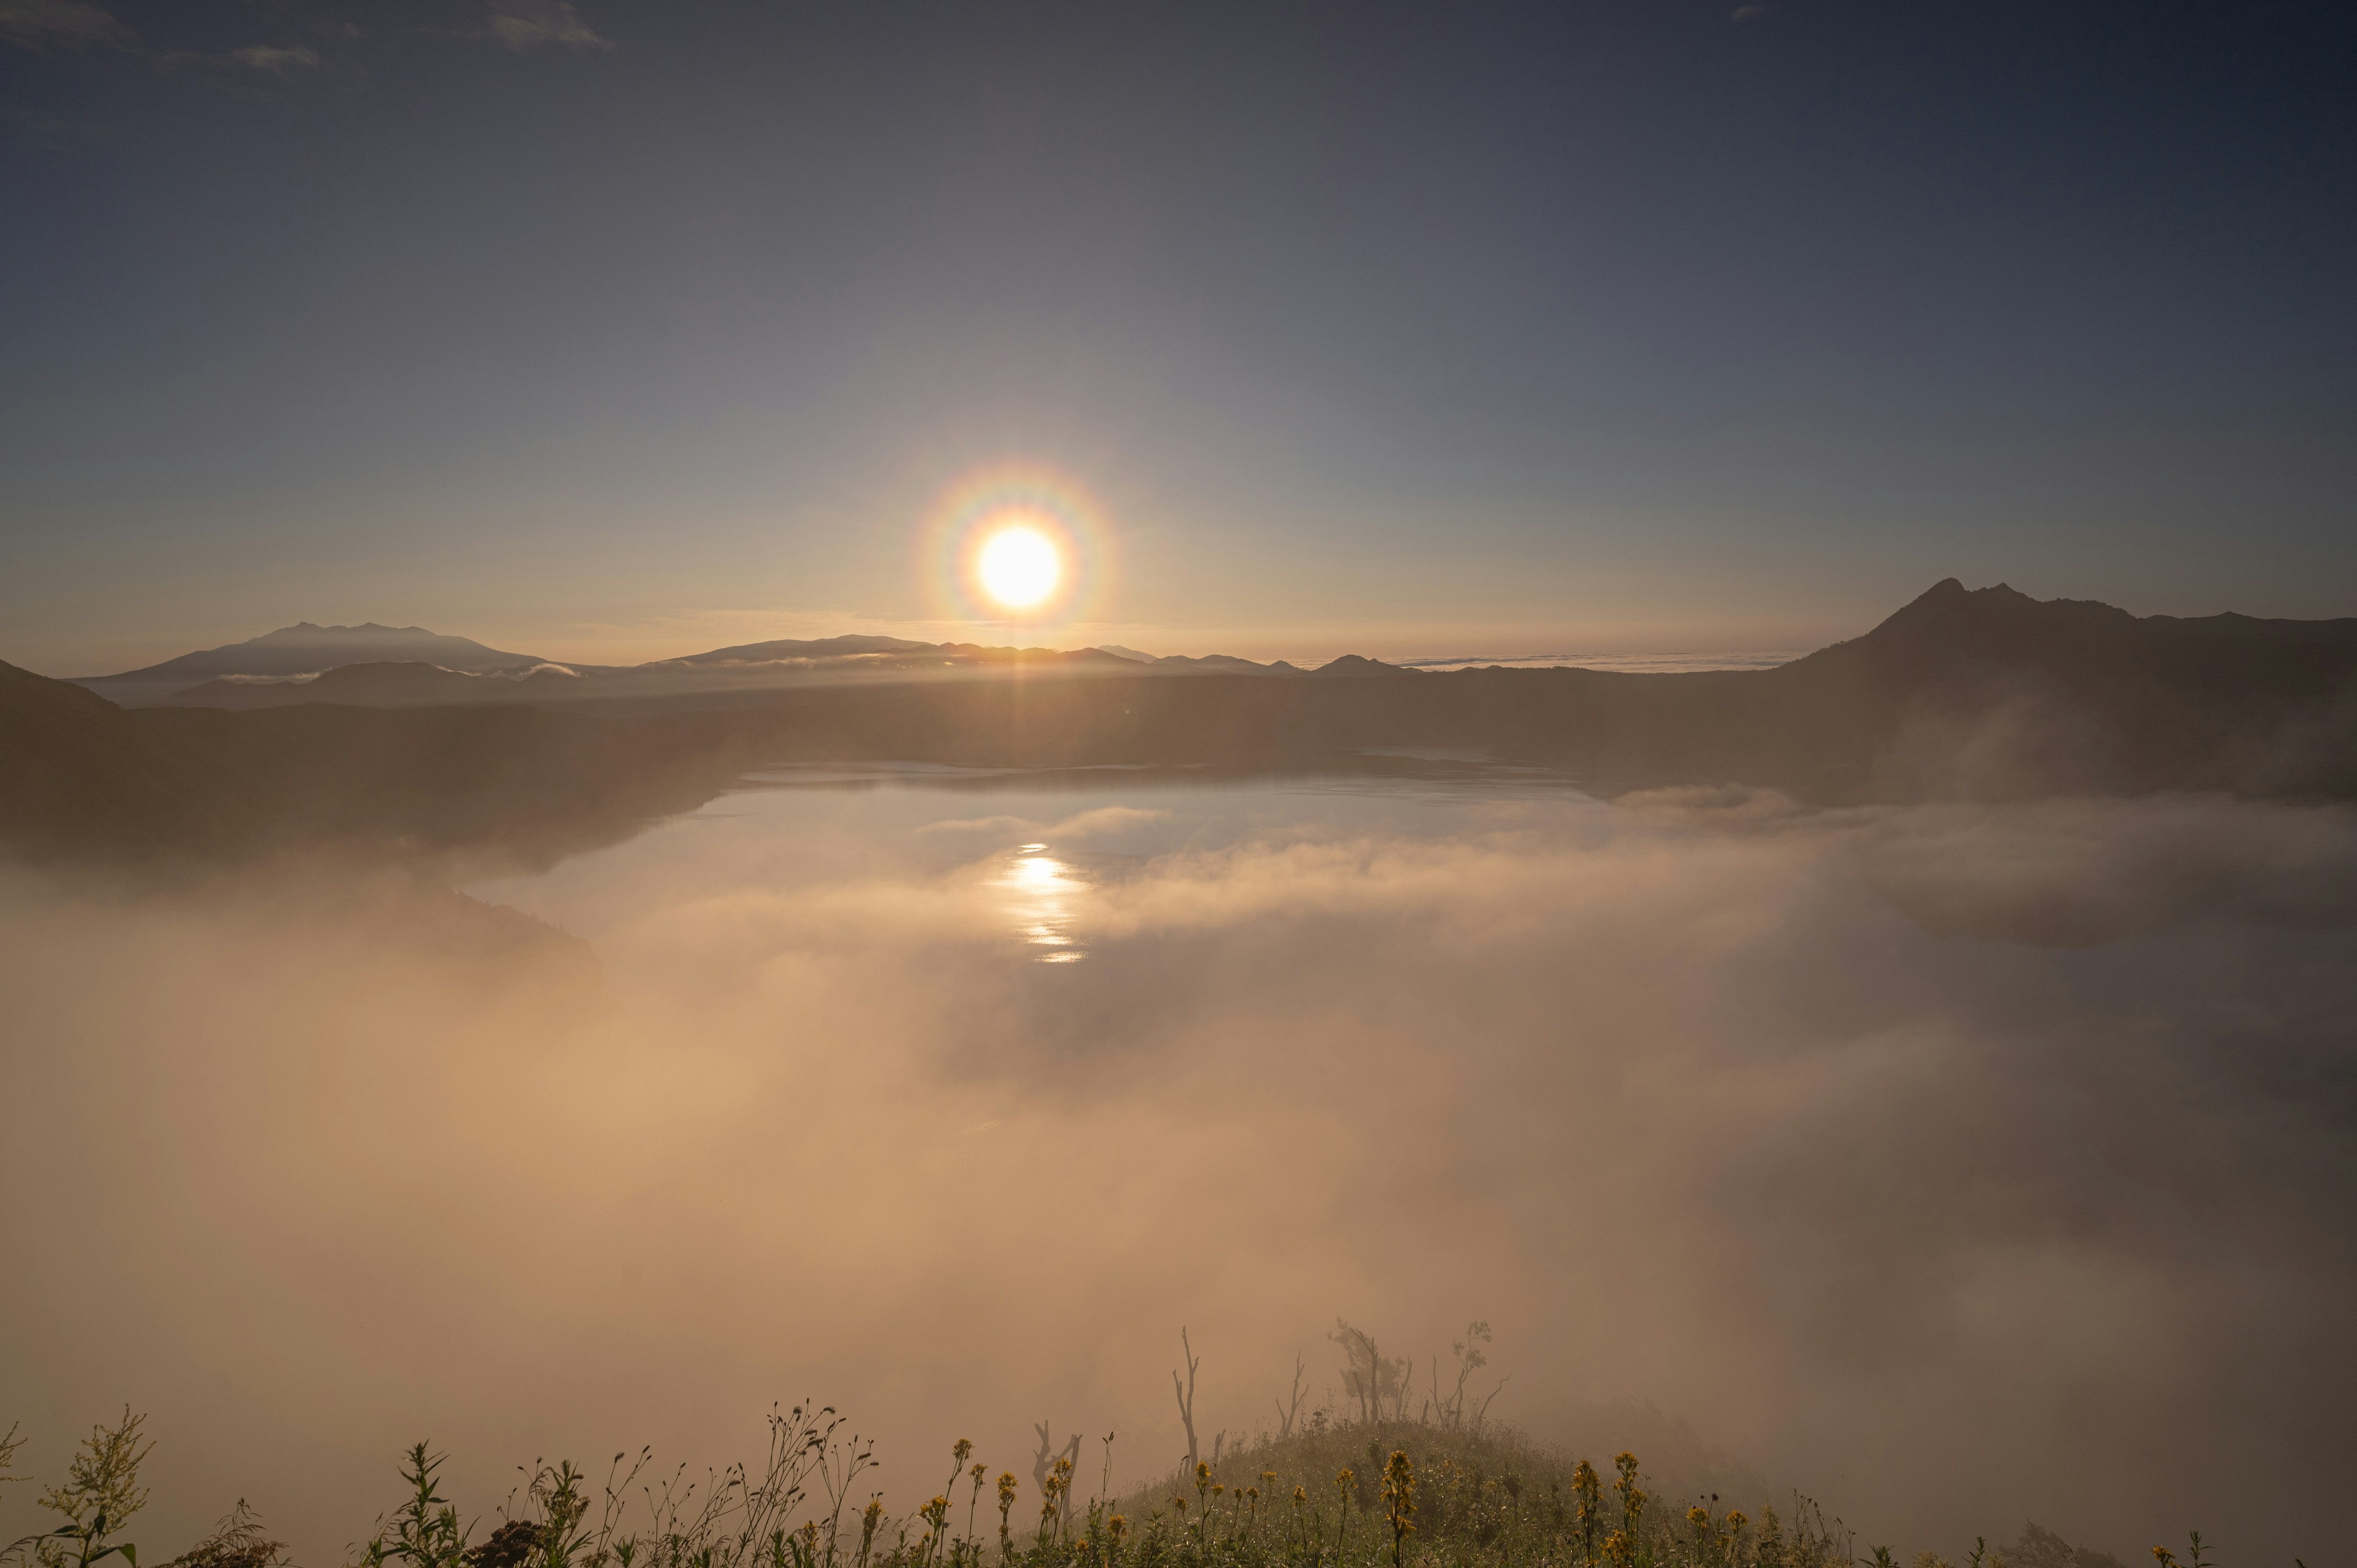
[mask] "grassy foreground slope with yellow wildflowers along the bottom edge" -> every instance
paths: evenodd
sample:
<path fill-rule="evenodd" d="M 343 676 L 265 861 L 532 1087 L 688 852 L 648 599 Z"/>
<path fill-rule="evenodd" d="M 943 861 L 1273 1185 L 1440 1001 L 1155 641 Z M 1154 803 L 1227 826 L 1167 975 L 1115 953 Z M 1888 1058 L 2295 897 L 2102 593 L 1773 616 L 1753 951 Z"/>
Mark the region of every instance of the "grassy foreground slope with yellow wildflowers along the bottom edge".
<path fill-rule="evenodd" d="M 1110 1438 L 1103 1478 L 1110 1478 Z M 57 1523 L 0 1549 L 0 1568 L 139 1568 L 130 1523 L 146 1504 L 151 1443 L 125 1410 L 99 1427 L 40 1507 Z M 14 1478 L 14 1429 L 0 1481 Z M 872 1448 L 827 1408 L 771 1412 L 759 1464 L 651 1478 L 648 1455 L 615 1455 L 601 1483 L 570 1462 L 540 1467 L 495 1521 L 467 1521 L 438 1490 L 441 1457 L 401 1462 L 398 1507 L 351 1549 L 349 1568 L 1959 1568 L 1930 1551 L 1860 1554 L 1855 1535 L 1805 1497 L 1780 1511 L 1673 1504 L 1636 1455 L 1607 1469 L 1513 1429 L 1464 1419 L 1313 1417 L 1181 1467 L 1124 1497 L 1077 1504 L 1077 1441 L 1032 1485 L 995 1478 L 955 1443 L 943 1488 L 893 1514 L 872 1485 Z M 2154 1547 L 2161 1568 L 2180 1563 Z M 160 1554 L 148 1551 L 151 1568 Z M 240 1502 L 167 1568 L 285 1568 L 285 1547 Z M 2206 1568 L 2192 1537 L 2185 1568 Z M 2121 1568 L 2027 1526 L 2008 1551 L 1975 1544 L 1968 1568 Z"/>

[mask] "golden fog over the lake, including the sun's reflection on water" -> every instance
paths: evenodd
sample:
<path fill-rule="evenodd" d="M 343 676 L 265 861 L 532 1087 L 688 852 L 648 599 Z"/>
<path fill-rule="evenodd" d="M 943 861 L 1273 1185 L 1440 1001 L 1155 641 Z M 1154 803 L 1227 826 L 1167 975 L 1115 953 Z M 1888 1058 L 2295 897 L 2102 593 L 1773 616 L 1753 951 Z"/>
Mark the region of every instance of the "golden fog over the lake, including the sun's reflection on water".
<path fill-rule="evenodd" d="M 245 1497 L 316 1566 L 410 1441 L 488 1511 L 816 1396 L 915 1507 L 1035 1422 L 1167 1469 L 1181 1327 L 1209 1436 L 1336 1316 L 1419 1386 L 1483 1318 L 1492 1415 L 1671 1488 L 2331 1559 L 2348 811 L 1369 769 L 780 771 L 469 898 L 0 875 L 19 1469 L 127 1401 L 158 1547 Z"/>

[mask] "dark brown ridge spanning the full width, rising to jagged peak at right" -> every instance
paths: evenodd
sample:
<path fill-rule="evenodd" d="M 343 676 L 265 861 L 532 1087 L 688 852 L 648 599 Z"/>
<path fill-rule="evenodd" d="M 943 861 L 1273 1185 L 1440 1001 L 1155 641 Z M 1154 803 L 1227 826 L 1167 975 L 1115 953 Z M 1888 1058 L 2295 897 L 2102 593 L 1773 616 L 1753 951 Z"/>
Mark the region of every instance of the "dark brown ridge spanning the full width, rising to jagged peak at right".
<path fill-rule="evenodd" d="M 292 632 L 356 646 L 323 639 L 332 627 Z M 2357 620 L 2135 618 L 1956 580 L 1808 658 L 1685 674 L 1405 672 L 1362 658 L 1287 674 L 898 639 L 750 644 L 627 672 L 478 644 L 460 655 L 488 667 L 346 663 L 292 684 L 250 677 L 245 653 L 196 655 L 229 658 L 245 679 L 210 677 L 184 698 L 311 693 L 271 712 L 127 712 L 0 665 L 0 849 L 139 858 L 344 844 L 547 861 L 691 809 L 750 769 L 884 759 L 1200 778 L 1395 769 L 1421 752 L 1553 769 L 1596 795 L 2357 799 Z M 174 665 L 191 670 L 158 670 Z M 801 674 L 780 684 L 780 670 Z M 1346 674 L 1369 679 L 1318 679 Z M 483 691 L 502 700 L 476 700 Z M 610 700 L 582 696 L 596 691 Z"/>

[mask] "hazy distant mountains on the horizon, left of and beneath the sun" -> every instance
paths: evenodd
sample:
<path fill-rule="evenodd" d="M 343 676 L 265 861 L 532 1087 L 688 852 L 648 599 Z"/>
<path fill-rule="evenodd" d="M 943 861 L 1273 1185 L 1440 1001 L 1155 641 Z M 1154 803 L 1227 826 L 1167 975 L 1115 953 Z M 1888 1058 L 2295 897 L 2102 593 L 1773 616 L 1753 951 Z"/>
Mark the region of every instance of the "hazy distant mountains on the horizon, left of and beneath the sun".
<path fill-rule="evenodd" d="M 78 677 L 123 707 L 438 707 L 445 703 L 559 703 L 585 698 L 662 698 L 698 691 L 759 691 L 825 681 L 955 679 L 1028 670 L 1039 674 L 1395 674 L 1391 665 L 1343 655 L 1322 670 L 1211 653 L 1155 658 L 1131 648 L 990 648 L 971 641 L 905 637 L 778 639 L 662 658 L 646 665 L 559 665 L 530 653 L 502 653 L 467 637 L 424 627 L 302 625 L 280 627 L 203 653 L 123 674 Z"/>

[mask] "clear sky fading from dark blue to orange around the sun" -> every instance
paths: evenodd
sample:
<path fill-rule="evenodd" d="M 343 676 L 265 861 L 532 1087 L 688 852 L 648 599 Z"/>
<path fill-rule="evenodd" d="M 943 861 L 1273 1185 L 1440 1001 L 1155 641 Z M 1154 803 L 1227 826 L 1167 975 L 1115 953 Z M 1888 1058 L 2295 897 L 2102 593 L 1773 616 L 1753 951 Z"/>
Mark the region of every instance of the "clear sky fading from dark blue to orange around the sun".
<path fill-rule="evenodd" d="M 0 658 L 52 674 L 950 630 L 924 512 L 1009 457 L 1115 556 L 1028 641 L 1805 648 L 1952 573 L 2357 613 L 2348 7 L 0 0 Z"/>

